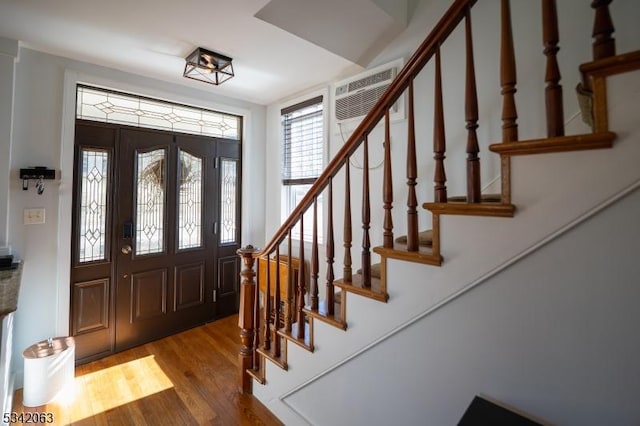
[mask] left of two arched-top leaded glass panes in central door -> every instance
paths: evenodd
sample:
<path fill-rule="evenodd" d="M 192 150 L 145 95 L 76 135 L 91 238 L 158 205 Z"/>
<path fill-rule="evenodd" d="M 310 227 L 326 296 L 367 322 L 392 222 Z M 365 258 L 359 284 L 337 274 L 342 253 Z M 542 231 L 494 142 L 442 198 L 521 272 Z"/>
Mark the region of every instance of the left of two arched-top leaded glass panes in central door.
<path fill-rule="evenodd" d="M 166 152 L 136 152 L 136 254 L 164 251 Z"/>

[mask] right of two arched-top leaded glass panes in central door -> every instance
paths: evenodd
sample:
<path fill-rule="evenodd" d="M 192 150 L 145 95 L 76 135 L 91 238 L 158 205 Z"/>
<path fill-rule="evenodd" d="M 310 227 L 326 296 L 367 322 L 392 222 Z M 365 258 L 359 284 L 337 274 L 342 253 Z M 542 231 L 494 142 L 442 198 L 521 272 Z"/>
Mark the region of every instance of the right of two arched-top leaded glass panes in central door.
<path fill-rule="evenodd" d="M 202 159 L 179 151 L 178 249 L 202 245 Z"/>

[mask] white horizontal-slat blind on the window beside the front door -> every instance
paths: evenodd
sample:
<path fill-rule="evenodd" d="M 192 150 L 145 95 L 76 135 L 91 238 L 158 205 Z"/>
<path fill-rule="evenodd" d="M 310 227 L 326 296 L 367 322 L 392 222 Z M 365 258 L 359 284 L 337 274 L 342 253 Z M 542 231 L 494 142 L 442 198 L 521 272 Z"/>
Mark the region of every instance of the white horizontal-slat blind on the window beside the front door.
<path fill-rule="evenodd" d="M 313 183 L 323 166 L 322 96 L 283 108 L 280 113 L 284 136 L 282 184 Z"/>

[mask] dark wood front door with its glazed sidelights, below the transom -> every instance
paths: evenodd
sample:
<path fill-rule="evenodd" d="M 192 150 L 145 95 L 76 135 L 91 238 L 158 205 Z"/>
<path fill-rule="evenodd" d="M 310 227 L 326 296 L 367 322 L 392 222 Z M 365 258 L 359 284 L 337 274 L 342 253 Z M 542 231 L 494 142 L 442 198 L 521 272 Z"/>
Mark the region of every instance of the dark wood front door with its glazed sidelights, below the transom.
<path fill-rule="evenodd" d="M 239 141 L 77 122 L 79 360 L 237 312 L 239 176 Z"/>

